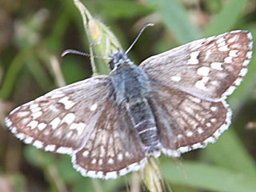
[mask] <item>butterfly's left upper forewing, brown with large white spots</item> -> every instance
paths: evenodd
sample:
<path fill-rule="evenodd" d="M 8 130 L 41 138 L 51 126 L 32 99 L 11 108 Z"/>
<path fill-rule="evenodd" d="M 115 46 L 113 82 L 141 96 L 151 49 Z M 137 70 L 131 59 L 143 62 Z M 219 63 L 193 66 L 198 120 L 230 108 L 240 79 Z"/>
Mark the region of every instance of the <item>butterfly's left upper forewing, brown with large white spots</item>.
<path fill-rule="evenodd" d="M 88 140 L 112 93 L 107 76 L 89 78 L 18 106 L 6 126 L 27 144 L 72 154 Z"/>

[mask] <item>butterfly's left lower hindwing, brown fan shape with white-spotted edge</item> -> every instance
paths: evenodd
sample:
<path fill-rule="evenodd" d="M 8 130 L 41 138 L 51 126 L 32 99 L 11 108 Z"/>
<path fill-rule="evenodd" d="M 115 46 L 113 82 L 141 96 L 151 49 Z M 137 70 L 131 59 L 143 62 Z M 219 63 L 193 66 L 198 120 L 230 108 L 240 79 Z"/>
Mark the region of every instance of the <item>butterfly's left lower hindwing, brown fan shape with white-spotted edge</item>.
<path fill-rule="evenodd" d="M 107 102 L 86 146 L 74 154 L 74 168 L 91 178 L 117 178 L 146 163 L 145 152 L 125 108 Z"/>

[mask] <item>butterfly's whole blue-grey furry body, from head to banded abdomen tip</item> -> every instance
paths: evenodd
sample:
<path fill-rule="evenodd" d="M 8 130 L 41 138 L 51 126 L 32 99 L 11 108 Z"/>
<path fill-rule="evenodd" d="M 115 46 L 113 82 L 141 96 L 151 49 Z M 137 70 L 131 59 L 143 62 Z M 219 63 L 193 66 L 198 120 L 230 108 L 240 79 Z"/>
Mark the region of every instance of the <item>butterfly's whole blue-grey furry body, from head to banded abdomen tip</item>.
<path fill-rule="evenodd" d="M 110 78 L 114 86 L 114 99 L 126 108 L 134 130 L 145 146 L 146 154 L 158 154 L 158 131 L 154 114 L 147 98 L 150 98 L 150 82 L 146 73 L 126 56 L 118 53 L 110 65 L 114 68 Z"/>

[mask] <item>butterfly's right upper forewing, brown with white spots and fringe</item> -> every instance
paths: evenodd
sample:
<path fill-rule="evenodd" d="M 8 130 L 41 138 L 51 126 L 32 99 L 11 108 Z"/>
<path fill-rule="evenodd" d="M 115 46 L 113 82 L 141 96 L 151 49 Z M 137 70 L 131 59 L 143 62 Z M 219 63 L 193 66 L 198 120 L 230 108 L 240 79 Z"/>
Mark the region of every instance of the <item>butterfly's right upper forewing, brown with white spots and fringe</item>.
<path fill-rule="evenodd" d="M 247 72 L 252 36 L 237 30 L 204 38 L 146 59 L 150 80 L 209 101 L 232 94 Z"/>

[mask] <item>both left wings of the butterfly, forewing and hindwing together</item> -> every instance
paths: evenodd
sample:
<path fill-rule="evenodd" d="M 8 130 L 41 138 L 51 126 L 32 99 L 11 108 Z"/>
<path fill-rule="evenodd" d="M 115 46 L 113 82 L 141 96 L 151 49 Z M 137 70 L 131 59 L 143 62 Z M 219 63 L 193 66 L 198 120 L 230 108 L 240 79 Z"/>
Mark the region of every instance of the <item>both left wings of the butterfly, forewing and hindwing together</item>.
<path fill-rule="evenodd" d="M 107 76 L 64 86 L 19 106 L 6 125 L 27 144 L 72 154 L 74 167 L 84 176 L 117 178 L 146 163 L 125 108 L 114 102 Z"/>

